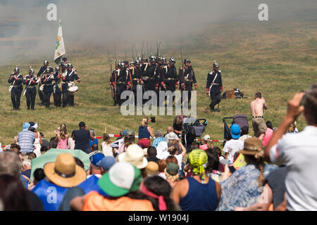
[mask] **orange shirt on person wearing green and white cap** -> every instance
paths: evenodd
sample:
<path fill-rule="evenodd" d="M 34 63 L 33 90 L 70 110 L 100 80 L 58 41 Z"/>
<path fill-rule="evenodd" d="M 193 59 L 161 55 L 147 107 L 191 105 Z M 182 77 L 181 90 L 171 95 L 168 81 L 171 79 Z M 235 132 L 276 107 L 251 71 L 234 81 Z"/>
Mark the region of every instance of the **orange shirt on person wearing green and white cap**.
<path fill-rule="evenodd" d="M 154 208 L 149 200 L 136 200 L 125 196 L 112 200 L 97 191 L 91 191 L 86 195 L 82 211 L 154 211 Z"/>

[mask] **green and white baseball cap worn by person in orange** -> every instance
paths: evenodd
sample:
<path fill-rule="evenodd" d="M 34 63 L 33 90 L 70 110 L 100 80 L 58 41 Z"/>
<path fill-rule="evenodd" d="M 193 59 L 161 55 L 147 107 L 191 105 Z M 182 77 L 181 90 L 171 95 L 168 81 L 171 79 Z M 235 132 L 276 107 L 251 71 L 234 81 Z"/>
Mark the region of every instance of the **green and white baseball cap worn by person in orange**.
<path fill-rule="evenodd" d="M 98 181 L 98 186 L 111 197 L 120 197 L 139 190 L 142 174 L 129 162 L 116 162 Z"/>

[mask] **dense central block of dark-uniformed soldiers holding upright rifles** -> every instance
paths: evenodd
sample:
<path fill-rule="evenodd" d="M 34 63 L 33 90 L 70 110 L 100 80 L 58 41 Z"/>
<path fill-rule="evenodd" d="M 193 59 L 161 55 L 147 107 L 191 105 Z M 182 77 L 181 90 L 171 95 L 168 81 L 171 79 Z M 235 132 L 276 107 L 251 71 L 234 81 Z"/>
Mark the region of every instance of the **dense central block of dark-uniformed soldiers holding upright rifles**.
<path fill-rule="evenodd" d="M 137 85 L 142 85 L 142 91 L 155 91 L 158 96 L 159 91 L 188 91 L 188 101 L 191 98 L 192 85 L 197 89 L 197 80 L 189 58 L 185 58 L 183 66 L 178 71 L 175 68 L 176 60 L 174 57 L 166 62 L 165 57 L 150 56 L 149 60 L 145 57 L 137 57 L 136 60 L 129 62 L 120 61 L 116 65 L 110 77 L 110 86 L 114 105 L 121 105 L 125 99 L 120 96 L 125 90 L 132 90 L 137 99 Z M 174 98 L 173 98 L 174 101 Z"/>

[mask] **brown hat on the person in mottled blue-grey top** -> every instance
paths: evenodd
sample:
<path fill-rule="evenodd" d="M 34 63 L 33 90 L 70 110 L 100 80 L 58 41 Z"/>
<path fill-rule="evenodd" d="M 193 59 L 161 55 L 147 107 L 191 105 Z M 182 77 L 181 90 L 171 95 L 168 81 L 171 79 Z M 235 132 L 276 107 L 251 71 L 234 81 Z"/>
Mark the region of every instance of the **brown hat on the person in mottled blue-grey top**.
<path fill-rule="evenodd" d="M 264 156 L 264 147 L 262 141 L 257 138 L 249 138 L 244 141 L 244 149 L 237 151 L 244 155 L 254 155 L 254 158 L 259 159 Z"/>

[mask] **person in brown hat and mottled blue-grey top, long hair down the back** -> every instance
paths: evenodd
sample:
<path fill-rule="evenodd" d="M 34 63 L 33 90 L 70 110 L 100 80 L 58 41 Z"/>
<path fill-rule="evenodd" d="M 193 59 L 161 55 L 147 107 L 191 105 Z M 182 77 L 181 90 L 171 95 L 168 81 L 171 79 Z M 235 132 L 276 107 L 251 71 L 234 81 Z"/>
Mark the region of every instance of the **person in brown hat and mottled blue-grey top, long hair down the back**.
<path fill-rule="evenodd" d="M 230 211 L 236 207 L 249 207 L 259 200 L 265 177 L 276 167 L 264 163 L 264 147 L 257 138 L 244 141 L 244 149 L 238 151 L 244 155 L 247 165 L 237 169 L 230 178 L 221 182 L 221 198 L 218 211 Z"/>

